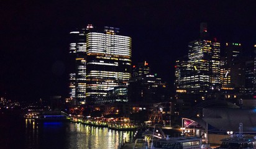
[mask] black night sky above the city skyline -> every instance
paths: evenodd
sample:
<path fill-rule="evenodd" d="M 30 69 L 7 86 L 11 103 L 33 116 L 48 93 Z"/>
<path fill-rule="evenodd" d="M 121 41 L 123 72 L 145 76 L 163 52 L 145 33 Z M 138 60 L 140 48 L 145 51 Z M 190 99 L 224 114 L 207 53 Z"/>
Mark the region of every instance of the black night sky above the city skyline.
<path fill-rule="evenodd" d="M 132 37 L 132 62 L 147 60 L 170 86 L 176 58 L 199 37 L 200 22 L 221 43 L 256 44 L 256 1 L 3 1 L 0 95 L 38 100 L 68 94 L 69 32 L 93 24 Z"/>

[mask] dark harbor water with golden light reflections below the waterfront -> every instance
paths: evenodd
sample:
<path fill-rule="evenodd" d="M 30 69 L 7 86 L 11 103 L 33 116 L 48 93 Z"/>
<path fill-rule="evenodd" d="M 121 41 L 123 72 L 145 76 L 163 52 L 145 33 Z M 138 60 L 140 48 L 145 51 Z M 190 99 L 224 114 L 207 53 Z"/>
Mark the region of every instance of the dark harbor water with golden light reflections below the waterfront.
<path fill-rule="evenodd" d="M 132 141 L 134 132 L 93 127 L 72 122 L 35 123 L 29 119 L 1 117 L 0 148 L 118 148 Z"/>

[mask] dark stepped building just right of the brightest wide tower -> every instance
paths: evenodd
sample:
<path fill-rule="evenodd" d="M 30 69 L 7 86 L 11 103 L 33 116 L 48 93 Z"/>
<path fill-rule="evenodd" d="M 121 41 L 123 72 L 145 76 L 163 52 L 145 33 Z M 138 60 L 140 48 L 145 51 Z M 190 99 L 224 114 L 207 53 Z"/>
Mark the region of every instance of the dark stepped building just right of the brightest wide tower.
<path fill-rule="evenodd" d="M 167 84 L 150 71 L 145 61 L 132 67 L 132 79 L 128 86 L 130 102 L 160 102 L 170 99 Z"/>

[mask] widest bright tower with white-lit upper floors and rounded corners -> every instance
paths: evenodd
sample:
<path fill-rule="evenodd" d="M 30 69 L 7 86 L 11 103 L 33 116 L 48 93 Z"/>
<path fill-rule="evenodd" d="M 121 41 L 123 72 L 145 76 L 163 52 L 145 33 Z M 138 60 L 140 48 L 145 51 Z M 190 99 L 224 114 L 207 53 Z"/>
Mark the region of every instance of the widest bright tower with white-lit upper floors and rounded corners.
<path fill-rule="evenodd" d="M 127 86 L 131 73 L 130 37 L 117 35 L 119 29 L 105 27 L 104 33 L 86 35 L 86 102 L 100 103 L 116 86 Z"/>

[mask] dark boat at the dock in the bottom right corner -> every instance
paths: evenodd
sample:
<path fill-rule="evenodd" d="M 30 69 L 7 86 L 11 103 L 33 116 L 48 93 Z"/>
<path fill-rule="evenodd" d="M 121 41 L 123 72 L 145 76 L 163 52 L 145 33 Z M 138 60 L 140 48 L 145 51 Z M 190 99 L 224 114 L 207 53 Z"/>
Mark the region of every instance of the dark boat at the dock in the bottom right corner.
<path fill-rule="evenodd" d="M 221 146 L 218 148 L 225 149 L 225 148 L 233 148 L 233 149 L 252 149 L 256 148 L 256 137 L 253 136 L 235 136 L 230 138 L 224 138 L 221 140 Z"/>

